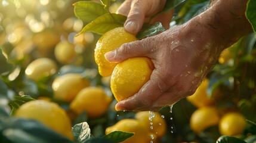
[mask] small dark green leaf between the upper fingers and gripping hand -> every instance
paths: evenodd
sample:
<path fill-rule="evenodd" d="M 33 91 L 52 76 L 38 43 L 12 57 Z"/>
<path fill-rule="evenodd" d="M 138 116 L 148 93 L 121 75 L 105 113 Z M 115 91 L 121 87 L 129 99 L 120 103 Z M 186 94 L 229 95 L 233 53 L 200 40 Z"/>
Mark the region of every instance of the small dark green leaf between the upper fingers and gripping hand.
<path fill-rule="evenodd" d="M 149 36 L 156 35 L 158 32 L 164 32 L 165 28 L 161 23 L 155 23 L 152 26 L 144 24 L 140 32 L 136 35 L 138 39 L 143 39 Z"/>

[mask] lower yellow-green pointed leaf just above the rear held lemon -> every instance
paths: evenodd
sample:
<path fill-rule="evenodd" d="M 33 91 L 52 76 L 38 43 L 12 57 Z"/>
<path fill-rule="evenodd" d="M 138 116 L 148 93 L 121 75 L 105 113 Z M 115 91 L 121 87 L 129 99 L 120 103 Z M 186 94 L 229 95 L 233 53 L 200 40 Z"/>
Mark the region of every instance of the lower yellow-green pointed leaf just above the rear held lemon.
<path fill-rule="evenodd" d="M 91 23 L 87 24 L 78 35 L 84 32 L 94 32 L 99 35 L 103 35 L 107 31 L 114 29 L 115 27 L 124 26 L 126 18 L 127 17 L 121 14 L 104 14 L 92 21 Z"/>

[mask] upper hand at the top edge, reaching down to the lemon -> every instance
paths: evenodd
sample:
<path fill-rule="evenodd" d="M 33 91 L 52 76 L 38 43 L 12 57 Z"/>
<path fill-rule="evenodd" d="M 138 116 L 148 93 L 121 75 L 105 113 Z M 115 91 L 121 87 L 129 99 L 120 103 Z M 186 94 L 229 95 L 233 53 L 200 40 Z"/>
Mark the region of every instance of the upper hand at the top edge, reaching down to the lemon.
<path fill-rule="evenodd" d="M 153 15 L 163 10 L 166 0 L 126 0 L 116 13 L 127 16 L 124 28 L 129 33 L 136 34 L 144 22 L 149 22 Z M 161 22 L 165 29 L 169 29 L 169 23 L 174 11 L 168 11 L 154 17 L 150 23 Z"/>

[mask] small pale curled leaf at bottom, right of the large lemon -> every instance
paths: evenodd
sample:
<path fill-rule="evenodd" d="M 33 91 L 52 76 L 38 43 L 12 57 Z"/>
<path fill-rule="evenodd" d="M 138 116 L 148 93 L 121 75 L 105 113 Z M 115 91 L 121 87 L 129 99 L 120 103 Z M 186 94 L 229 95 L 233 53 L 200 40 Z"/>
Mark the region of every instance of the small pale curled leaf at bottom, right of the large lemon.
<path fill-rule="evenodd" d="M 91 129 L 87 122 L 79 123 L 73 126 L 72 133 L 76 141 L 86 142 L 91 138 Z"/>

